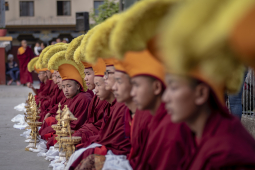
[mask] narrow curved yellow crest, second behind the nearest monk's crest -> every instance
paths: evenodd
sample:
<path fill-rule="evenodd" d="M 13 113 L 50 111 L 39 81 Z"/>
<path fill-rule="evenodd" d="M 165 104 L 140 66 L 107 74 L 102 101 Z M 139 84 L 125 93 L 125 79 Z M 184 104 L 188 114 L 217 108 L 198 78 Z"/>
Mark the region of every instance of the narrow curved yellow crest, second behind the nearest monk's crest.
<path fill-rule="evenodd" d="M 99 57 L 110 58 L 113 53 L 110 50 L 110 36 L 116 23 L 122 19 L 121 14 L 115 14 L 105 20 L 94 31 L 86 46 L 85 60 L 89 63 L 95 63 Z M 126 23 L 126 25 L 128 25 Z"/>

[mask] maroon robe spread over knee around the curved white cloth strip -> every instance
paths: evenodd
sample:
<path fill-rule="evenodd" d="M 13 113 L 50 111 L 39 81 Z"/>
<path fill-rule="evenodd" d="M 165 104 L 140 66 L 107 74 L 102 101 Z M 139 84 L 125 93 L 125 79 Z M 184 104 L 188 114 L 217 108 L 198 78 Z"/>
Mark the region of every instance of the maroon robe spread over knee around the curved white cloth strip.
<path fill-rule="evenodd" d="M 116 102 L 115 99 L 104 114 L 104 122 L 99 134 L 91 136 L 85 143 L 80 144 L 78 147 L 87 147 L 91 143 L 99 143 L 103 145 L 101 148 L 111 150 L 116 155 L 127 155 L 131 148 L 130 136 L 127 134 L 127 132 L 130 131 L 130 124 L 125 122 L 130 122 L 130 120 L 131 115 L 127 106 L 123 103 Z M 83 154 L 74 161 L 70 169 L 74 169 L 82 159 L 94 153 L 96 149 L 97 148 L 92 148 L 84 151 Z"/>

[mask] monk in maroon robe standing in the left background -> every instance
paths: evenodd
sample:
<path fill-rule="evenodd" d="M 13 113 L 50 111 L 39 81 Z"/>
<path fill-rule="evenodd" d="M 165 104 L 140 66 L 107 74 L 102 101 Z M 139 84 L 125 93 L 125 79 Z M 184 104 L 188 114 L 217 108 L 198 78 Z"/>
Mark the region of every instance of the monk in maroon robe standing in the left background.
<path fill-rule="evenodd" d="M 27 46 L 27 41 L 21 41 L 21 47 L 18 49 L 17 57 L 19 59 L 19 70 L 20 70 L 20 83 L 30 84 L 33 83 L 32 74 L 27 70 L 28 62 L 34 57 L 33 51 Z"/>

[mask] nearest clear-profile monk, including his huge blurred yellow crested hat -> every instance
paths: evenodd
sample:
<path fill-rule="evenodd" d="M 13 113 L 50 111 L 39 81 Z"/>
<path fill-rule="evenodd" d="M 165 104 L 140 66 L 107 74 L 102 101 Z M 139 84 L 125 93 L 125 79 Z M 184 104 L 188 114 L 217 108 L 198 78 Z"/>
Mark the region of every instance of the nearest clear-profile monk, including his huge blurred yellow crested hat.
<path fill-rule="evenodd" d="M 172 122 L 185 122 L 192 135 L 192 141 L 187 142 L 190 149 L 179 169 L 255 169 L 255 140 L 229 113 L 224 100 L 226 91 L 238 92 L 245 72 L 245 66 L 229 47 L 228 31 L 234 25 L 233 15 L 242 11 L 238 9 L 244 7 L 242 3 L 253 1 L 225 2 L 183 3 L 160 28 L 161 59 L 169 73 L 163 101 Z M 201 5 L 207 10 L 197 13 Z M 248 7 L 252 7 L 250 5 Z M 197 17 L 198 14 L 206 17 Z M 196 29 L 186 27 L 187 17 Z M 234 17 L 239 18 L 238 13 Z M 229 23 L 222 24 L 222 18 Z M 208 36 L 216 27 L 220 29 Z M 201 41 L 194 41 L 198 37 Z M 201 42 L 210 43 L 203 46 Z"/>

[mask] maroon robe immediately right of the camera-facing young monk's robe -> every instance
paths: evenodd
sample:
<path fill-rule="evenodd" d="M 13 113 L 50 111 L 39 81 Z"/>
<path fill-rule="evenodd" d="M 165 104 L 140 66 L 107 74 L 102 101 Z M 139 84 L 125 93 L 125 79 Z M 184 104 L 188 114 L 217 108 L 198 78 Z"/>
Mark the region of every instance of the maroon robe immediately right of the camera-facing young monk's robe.
<path fill-rule="evenodd" d="M 108 106 L 108 102 L 100 100 L 94 95 L 88 108 L 88 117 L 85 123 L 78 129 L 73 136 L 82 137 L 82 143 L 93 135 L 98 135 L 98 132 L 103 123 L 104 109 Z"/>

